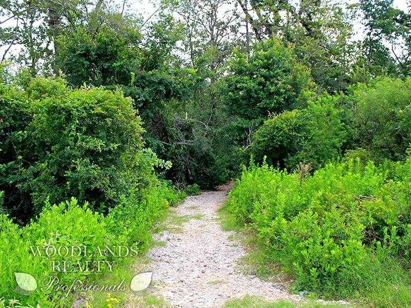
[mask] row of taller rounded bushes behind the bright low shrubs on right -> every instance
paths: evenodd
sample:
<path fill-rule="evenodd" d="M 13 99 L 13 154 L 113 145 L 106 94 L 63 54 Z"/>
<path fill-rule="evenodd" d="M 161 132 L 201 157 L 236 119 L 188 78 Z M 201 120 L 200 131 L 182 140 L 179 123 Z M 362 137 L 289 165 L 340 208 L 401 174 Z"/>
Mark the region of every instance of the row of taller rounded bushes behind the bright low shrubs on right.
<path fill-rule="evenodd" d="M 317 169 L 358 148 L 378 163 L 404 159 L 411 141 L 410 90 L 409 78 L 380 78 L 353 85 L 346 94 L 322 94 L 306 108 L 266 120 L 252 134 L 251 153 L 287 169 L 300 162 Z"/>

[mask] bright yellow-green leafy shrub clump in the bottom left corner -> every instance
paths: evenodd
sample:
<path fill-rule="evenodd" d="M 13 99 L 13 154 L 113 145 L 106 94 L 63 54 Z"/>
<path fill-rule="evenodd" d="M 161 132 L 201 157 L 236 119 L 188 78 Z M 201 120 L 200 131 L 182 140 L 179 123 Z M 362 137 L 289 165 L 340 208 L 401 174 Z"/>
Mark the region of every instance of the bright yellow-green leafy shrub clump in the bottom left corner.
<path fill-rule="evenodd" d="M 52 272 L 52 261 L 80 261 L 84 264 L 85 259 L 90 261 L 102 260 L 96 257 L 60 257 L 58 254 L 48 258 L 45 253 L 39 256 L 36 249 L 31 251 L 30 246 L 62 246 L 62 245 L 87 245 L 89 251 L 94 251 L 97 246 L 104 247 L 109 243 L 107 232 L 104 226 L 103 217 L 92 213 L 85 206 L 79 206 L 77 200 L 71 199 L 70 202 L 60 205 L 46 206 L 41 213 L 39 220 L 32 224 L 19 228 L 11 220 L 2 217 L 1 244 L 7 248 L 0 253 L 0 267 L 2 277 L 0 278 L 2 290 L 0 297 L 6 299 L 17 298 L 22 303 L 42 306 L 60 306 L 60 300 L 64 300 L 62 291 L 41 291 L 42 279 L 48 275 L 57 275 L 61 283 L 70 285 L 73 279 L 84 280 L 89 273 L 64 273 Z M 40 248 L 41 249 L 41 248 Z M 52 249 L 52 248 L 50 248 Z M 52 252 L 52 250 L 50 250 Z M 14 272 L 28 273 L 38 282 L 38 288 L 30 296 L 21 296 L 14 292 L 16 285 Z"/>

